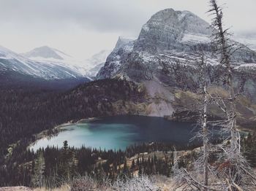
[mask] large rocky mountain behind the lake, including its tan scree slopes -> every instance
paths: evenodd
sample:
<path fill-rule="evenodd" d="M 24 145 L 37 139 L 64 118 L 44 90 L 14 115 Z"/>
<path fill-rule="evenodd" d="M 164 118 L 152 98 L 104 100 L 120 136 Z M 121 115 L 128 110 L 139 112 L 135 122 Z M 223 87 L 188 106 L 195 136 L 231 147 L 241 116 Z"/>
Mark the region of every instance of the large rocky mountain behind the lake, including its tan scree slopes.
<path fill-rule="evenodd" d="M 208 82 L 219 85 L 216 91 L 225 93 L 219 80 L 219 58 L 211 51 L 211 34 L 209 24 L 192 12 L 162 10 L 142 27 L 138 39 L 118 39 L 97 79 L 118 77 L 143 85 L 154 100 L 148 106 L 148 115 L 176 115 L 178 119 L 178 114 L 192 114 L 197 112 L 201 52 L 208 62 Z M 235 40 L 233 43 L 241 45 Z M 246 122 L 249 117 L 256 120 L 256 52 L 242 47 L 232 59 L 235 82 L 241 84 L 249 103 L 239 104 L 243 115 L 240 121 Z M 211 111 L 218 116 L 218 109 Z"/>

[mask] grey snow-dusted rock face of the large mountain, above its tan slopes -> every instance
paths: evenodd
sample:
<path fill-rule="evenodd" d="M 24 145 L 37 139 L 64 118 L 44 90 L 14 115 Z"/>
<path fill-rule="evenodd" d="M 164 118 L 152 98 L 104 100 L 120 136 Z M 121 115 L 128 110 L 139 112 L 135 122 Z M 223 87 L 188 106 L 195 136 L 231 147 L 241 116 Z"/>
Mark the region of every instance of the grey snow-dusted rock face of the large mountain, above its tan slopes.
<path fill-rule="evenodd" d="M 217 69 L 219 58 L 211 53 L 211 34 L 209 24 L 192 12 L 162 10 L 143 26 L 138 39 L 118 39 L 97 78 L 119 76 L 135 82 L 154 79 L 170 87 L 196 90 L 199 87 L 197 66 L 202 51 L 208 62 L 208 81 L 216 82 L 220 72 Z M 233 43 L 236 47 L 240 45 Z M 241 48 L 234 53 L 233 64 L 236 81 L 246 76 L 249 84 L 255 87 L 256 52 Z M 251 95 L 256 93 L 251 87 L 245 89 L 250 89 Z"/>

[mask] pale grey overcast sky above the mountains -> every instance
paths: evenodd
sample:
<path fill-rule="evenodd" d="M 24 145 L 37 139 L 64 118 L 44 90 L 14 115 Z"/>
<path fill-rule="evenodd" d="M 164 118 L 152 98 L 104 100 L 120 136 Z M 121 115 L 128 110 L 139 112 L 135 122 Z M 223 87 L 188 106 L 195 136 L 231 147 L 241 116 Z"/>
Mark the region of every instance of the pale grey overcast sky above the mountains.
<path fill-rule="evenodd" d="M 255 0 L 219 0 L 224 3 L 226 26 L 256 33 Z M 211 19 L 208 0 L 0 0 L 0 45 L 15 52 L 48 45 L 85 59 L 113 49 L 118 36 L 137 37 L 151 15 L 166 8 Z"/>

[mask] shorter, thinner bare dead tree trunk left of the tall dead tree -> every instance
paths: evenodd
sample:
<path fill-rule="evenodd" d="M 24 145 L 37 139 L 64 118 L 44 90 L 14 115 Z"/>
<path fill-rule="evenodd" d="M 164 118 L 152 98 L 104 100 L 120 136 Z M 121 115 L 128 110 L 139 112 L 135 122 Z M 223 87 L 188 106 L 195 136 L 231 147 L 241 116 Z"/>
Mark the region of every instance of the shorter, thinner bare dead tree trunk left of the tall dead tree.
<path fill-rule="evenodd" d="M 192 140 L 199 139 L 203 141 L 203 150 L 199 151 L 199 157 L 192 163 L 192 171 L 187 171 L 185 168 L 178 169 L 178 157 L 176 155 L 176 150 L 173 154 L 174 165 L 173 172 L 175 174 L 177 187 L 183 187 L 185 190 L 215 190 L 211 181 L 208 184 L 208 174 L 215 176 L 216 173 L 214 169 L 208 163 L 211 145 L 209 144 L 209 131 L 207 122 L 207 107 L 209 104 L 208 93 L 207 93 L 207 63 L 206 56 L 203 51 L 200 52 L 200 60 L 195 61 L 197 63 L 198 77 L 200 81 L 199 93 L 201 97 L 202 104 L 200 106 L 200 119 L 198 120 L 197 126 L 200 126 L 200 130 L 195 134 Z M 203 175 L 203 179 L 202 179 Z M 215 178 L 213 179 L 215 180 Z"/>

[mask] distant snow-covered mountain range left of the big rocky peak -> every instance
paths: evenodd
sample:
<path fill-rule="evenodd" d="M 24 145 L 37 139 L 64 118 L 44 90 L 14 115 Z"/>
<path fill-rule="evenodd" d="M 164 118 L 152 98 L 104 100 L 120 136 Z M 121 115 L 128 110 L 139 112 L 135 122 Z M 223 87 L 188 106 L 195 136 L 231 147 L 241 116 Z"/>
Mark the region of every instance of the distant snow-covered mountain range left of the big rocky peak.
<path fill-rule="evenodd" d="M 72 56 L 47 46 L 37 47 L 23 54 L 0 47 L 1 85 L 15 82 L 88 82 L 104 65 L 107 55 L 108 51 L 102 50 L 88 60 L 77 61 Z"/>

